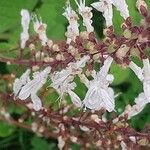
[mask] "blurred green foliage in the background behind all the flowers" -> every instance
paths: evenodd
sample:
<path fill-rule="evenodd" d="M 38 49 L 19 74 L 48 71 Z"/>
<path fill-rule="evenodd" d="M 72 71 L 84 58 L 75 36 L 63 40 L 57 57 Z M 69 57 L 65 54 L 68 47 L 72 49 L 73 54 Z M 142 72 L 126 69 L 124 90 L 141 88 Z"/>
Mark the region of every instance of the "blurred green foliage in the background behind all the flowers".
<path fill-rule="evenodd" d="M 86 0 L 86 2 L 90 4 L 92 0 Z M 150 1 L 147 0 L 146 2 L 150 6 Z M 71 3 L 76 9 L 74 1 L 71 0 Z M 135 7 L 136 0 L 127 0 L 127 3 L 133 22 L 138 25 L 140 15 Z M 64 0 L 0 0 L 0 56 L 17 57 L 18 39 L 21 32 L 20 10 L 22 8 L 28 9 L 30 12 L 35 11 L 42 17 L 43 22 L 48 25 L 47 34 L 49 38 L 55 41 L 64 40 L 64 33 L 67 26 L 66 19 L 61 15 L 64 11 L 64 6 Z M 103 37 L 104 19 L 95 10 L 93 10 L 93 14 L 93 25 L 98 38 L 101 39 Z M 121 34 L 120 25 L 122 21 L 119 12 L 114 9 L 113 23 L 115 32 L 118 35 Z M 81 26 L 81 30 L 84 30 L 83 26 Z M 32 27 L 31 32 L 33 33 Z M 140 64 L 138 59 L 134 59 Z M 6 92 L 8 90 L 6 87 L 7 80 L 2 78 L 2 76 L 12 72 L 15 72 L 19 76 L 24 70 L 22 67 L 19 67 L 17 71 L 16 69 L 17 66 L 15 65 L 0 63 L 0 92 Z M 112 85 L 113 88 L 116 92 L 121 92 L 121 95 L 116 100 L 117 113 L 121 113 L 127 104 L 134 104 L 134 98 L 142 91 L 142 85 L 133 72 L 129 69 L 120 68 L 115 63 L 111 68 L 111 73 L 115 76 Z M 77 93 L 82 97 L 86 88 L 83 85 L 79 86 L 81 86 L 82 90 L 77 89 Z M 57 94 L 52 93 L 51 99 L 49 99 L 49 96 L 46 98 L 45 105 L 52 102 L 56 97 Z M 10 105 L 9 107 L 10 114 L 15 116 L 24 111 L 23 108 L 17 108 L 14 105 Z M 150 122 L 150 115 L 148 115 L 149 109 L 150 106 L 147 105 L 138 116 L 133 117 L 129 121 L 135 129 L 142 130 L 144 125 Z M 12 149 L 12 147 L 15 150 L 52 150 L 57 149 L 57 141 L 37 137 L 23 129 L 0 121 L 0 150 Z M 78 146 L 73 145 L 73 149 L 78 149 Z"/>

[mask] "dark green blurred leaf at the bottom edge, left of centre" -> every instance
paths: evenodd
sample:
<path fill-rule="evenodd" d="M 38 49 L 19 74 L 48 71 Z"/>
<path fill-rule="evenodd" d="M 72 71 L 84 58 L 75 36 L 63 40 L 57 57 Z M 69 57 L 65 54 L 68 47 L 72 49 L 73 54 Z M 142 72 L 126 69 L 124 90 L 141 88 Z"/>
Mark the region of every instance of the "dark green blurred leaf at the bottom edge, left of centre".
<path fill-rule="evenodd" d="M 33 137 L 31 141 L 32 149 L 31 150 L 53 150 L 57 149 L 54 143 L 48 143 L 46 140 Z"/>

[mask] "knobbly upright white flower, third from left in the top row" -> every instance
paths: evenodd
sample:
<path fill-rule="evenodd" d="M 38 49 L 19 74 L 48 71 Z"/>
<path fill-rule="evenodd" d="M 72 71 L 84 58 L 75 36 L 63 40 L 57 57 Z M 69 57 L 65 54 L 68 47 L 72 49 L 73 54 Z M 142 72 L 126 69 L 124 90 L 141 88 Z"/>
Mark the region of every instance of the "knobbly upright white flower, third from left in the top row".
<path fill-rule="evenodd" d="M 67 43 L 70 43 L 71 41 L 74 41 L 76 36 L 79 35 L 79 24 L 77 22 L 78 15 L 76 12 L 71 8 L 70 2 L 67 1 L 66 3 L 66 9 L 63 13 L 63 16 L 65 16 L 69 21 L 69 26 L 67 27 Z"/>

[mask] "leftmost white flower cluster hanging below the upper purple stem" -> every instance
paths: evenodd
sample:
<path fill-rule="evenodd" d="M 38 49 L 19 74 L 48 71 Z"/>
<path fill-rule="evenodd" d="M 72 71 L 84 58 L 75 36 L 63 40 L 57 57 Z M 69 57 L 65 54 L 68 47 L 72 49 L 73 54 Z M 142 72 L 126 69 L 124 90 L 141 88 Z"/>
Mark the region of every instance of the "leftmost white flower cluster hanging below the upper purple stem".
<path fill-rule="evenodd" d="M 31 96 L 33 102 L 33 109 L 39 111 L 42 108 L 40 98 L 36 95 L 38 90 L 45 84 L 51 68 L 47 67 L 43 71 L 33 73 L 33 79 L 29 77 L 30 70 L 27 70 L 20 79 L 15 79 L 13 90 L 15 97 L 18 96 L 20 100 L 25 100 Z"/>

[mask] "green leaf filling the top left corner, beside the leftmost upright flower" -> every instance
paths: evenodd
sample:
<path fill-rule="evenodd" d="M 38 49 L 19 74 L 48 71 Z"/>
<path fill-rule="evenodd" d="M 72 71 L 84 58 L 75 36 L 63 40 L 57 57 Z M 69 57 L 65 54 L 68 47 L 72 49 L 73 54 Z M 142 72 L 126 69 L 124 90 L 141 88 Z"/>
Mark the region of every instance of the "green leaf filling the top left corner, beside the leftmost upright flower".
<path fill-rule="evenodd" d="M 33 10 L 38 0 L 0 0 L 0 33 L 21 28 L 20 10 Z"/>

